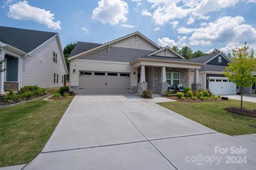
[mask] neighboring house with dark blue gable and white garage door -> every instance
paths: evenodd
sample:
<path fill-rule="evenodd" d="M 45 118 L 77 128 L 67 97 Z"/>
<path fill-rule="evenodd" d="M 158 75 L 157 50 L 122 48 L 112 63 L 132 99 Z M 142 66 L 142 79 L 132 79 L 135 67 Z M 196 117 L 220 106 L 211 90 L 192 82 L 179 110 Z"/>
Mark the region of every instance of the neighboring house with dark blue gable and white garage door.
<path fill-rule="evenodd" d="M 236 85 L 223 75 L 223 71 L 231 62 L 223 52 L 200 56 L 191 61 L 205 64 L 198 70 L 199 82 L 203 89 L 209 89 L 213 94 L 236 94 Z M 256 76 L 255 72 L 254 75 Z M 194 70 L 190 70 L 190 83 L 193 82 L 193 77 Z M 243 91 L 245 94 L 255 94 L 255 84 L 252 87 L 244 87 Z"/>

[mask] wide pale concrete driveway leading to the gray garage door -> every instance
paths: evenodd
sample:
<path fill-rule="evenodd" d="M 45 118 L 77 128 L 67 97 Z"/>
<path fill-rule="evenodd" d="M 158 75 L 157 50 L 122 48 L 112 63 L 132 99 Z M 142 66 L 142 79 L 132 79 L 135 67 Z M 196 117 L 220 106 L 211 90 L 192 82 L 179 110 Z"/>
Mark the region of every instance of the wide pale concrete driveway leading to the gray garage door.
<path fill-rule="evenodd" d="M 242 147 L 247 152 L 215 153 L 214 147 Z M 227 156 L 236 159 L 246 156 L 246 163 L 228 164 Z M 42 153 L 24 169 L 254 169 L 255 166 L 255 144 L 215 132 L 153 101 L 134 95 L 77 95 Z"/>

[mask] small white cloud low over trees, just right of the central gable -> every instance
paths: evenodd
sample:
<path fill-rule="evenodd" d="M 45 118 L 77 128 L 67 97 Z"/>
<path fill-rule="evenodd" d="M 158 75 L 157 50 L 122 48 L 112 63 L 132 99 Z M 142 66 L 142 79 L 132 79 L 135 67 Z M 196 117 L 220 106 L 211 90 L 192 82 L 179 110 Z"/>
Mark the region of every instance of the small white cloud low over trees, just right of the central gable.
<path fill-rule="evenodd" d="M 182 48 L 183 46 L 187 46 L 186 44 L 186 40 L 187 37 L 186 36 L 178 36 L 177 37 L 178 42 L 175 42 L 174 39 L 170 39 L 168 37 L 163 37 L 163 38 L 158 38 L 157 39 L 157 43 L 159 44 L 159 46 L 165 47 L 165 46 L 170 46 L 173 47 L 173 45 L 178 46 L 179 48 Z"/>

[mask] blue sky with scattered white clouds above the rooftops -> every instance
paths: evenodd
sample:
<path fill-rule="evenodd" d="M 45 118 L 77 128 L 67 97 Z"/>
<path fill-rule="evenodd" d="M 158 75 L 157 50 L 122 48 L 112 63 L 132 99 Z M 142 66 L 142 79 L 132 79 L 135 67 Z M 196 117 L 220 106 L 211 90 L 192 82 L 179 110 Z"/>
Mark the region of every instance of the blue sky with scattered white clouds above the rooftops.
<path fill-rule="evenodd" d="M 54 31 L 62 46 L 106 43 L 140 31 L 161 46 L 230 52 L 256 48 L 256 0 L 15 1 L 0 4 L 0 25 Z"/>

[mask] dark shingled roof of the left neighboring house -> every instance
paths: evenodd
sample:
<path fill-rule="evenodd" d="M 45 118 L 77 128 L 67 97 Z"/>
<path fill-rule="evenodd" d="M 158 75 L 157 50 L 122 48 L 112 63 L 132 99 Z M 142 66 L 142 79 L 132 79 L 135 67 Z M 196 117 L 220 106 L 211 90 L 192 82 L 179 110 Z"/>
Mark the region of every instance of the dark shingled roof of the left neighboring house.
<path fill-rule="evenodd" d="M 29 53 L 58 33 L 0 26 L 0 41 Z"/>

